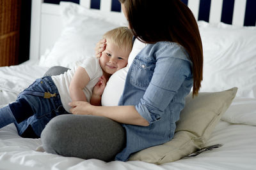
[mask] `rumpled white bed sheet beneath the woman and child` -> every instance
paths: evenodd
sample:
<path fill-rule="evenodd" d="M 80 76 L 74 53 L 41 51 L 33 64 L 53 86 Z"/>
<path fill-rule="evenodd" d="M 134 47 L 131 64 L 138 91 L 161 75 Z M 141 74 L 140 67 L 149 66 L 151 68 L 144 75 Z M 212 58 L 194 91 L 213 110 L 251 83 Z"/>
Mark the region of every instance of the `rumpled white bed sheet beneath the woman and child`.
<path fill-rule="evenodd" d="M 27 63 L 0 67 L 0 107 L 15 101 L 17 94 L 41 77 L 47 67 Z M 255 169 L 256 99 L 236 98 L 216 126 L 207 145 L 221 148 L 193 158 L 157 166 L 141 161 L 103 162 L 36 152 L 40 139 L 20 138 L 14 124 L 0 129 L 0 169 Z M 239 108 L 239 110 L 237 109 Z"/>

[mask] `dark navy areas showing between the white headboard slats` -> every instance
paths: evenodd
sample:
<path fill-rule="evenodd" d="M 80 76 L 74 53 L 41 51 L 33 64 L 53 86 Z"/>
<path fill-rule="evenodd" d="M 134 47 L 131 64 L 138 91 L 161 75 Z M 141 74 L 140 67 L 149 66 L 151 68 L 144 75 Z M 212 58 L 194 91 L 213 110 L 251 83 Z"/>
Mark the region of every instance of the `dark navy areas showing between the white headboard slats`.
<path fill-rule="evenodd" d="M 60 1 L 70 1 L 79 4 L 79 0 L 44 0 L 44 3 L 59 4 Z M 104 1 L 104 0 L 102 0 Z M 181 0 L 188 5 L 188 0 Z M 198 20 L 209 22 L 211 1 L 214 0 L 200 0 Z M 237 0 L 236 0 L 237 1 Z M 223 0 L 221 22 L 232 24 L 232 17 L 234 11 L 235 0 Z M 100 9 L 100 0 L 91 0 L 91 8 Z M 246 1 L 246 10 L 244 15 L 244 26 L 255 26 L 256 21 L 256 0 Z M 111 11 L 121 11 L 121 5 L 118 0 L 112 0 Z"/>

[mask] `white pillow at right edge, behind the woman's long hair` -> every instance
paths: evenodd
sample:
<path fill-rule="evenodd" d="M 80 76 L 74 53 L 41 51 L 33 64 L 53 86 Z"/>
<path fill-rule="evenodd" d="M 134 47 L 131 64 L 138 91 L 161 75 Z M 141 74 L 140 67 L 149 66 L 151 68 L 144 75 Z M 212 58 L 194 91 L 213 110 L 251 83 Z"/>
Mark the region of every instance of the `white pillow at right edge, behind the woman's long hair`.
<path fill-rule="evenodd" d="M 204 49 L 200 92 L 238 87 L 237 97 L 256 97 L 256 27 L 198 22 Z"/>

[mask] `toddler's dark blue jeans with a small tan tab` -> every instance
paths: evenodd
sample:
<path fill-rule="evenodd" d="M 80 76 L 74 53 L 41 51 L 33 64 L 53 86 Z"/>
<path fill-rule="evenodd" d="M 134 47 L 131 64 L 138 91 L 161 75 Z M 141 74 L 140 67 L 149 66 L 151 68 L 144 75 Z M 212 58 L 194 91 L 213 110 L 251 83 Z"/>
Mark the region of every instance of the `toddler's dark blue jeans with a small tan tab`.
<path fill-rule="evenodd" d="M 54 96 L 44 97 L 45 92 Z M 15 123 L 19 135 L 30 126 L 40 137 L 45 125 L 64 110 L 58 89 L 51 77 L 38 78 L 19 94 L 14 103 L 0 109 L 0 127 Z"/>

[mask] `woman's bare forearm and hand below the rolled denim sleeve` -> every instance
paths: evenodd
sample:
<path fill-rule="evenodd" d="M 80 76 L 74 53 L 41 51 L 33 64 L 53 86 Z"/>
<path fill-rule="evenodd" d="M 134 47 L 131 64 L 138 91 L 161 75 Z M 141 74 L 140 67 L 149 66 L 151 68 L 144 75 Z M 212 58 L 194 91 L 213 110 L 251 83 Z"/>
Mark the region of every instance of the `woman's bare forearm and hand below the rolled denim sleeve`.
<path fill-rule="evenodd" d="M 93 106 L 87 102 L 72 102 L 70 112 L 76 115 L 107 117 L 121 124 L 148 126 L 148 121 L 136 111 L 134 106 Z"/>

